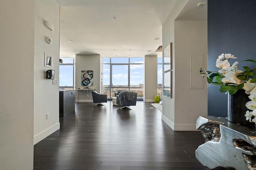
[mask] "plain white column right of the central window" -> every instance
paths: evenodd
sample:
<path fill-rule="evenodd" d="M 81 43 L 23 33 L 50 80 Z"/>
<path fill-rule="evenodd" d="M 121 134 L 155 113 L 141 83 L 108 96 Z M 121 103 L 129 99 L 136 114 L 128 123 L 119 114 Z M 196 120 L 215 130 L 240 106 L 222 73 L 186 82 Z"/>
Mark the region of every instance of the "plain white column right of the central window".
<path fill-rule="evenodd" d="M 144 102 L 154 102 L 157 95 L 157 56 L 144 57 Z"/>

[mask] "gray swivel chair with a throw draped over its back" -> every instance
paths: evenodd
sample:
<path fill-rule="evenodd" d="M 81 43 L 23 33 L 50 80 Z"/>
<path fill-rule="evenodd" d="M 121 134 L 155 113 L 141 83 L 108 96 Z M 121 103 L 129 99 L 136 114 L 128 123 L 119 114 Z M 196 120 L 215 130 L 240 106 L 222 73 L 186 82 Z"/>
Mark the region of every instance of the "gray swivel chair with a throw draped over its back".
<path fill-rule="evenodd" d="M 129 92 L 129 91 L 126 91 L 126 92 Z M 120 101 L 120 98 L 122 94 L 126 93 L 126 92 L 120 92 L 120 94 L 118 94 L 116 96 L 116 104 L 118 104 L 119 106 L 124 106 L 124 107 L 121 107 L 120 109 L 122 110 L 131 110 L 132 108 L 128 107 L 128 106 L 136 106 L 136 102 L 137 102 L 137 93 L 136 92 L 133 92 L 133 100 L 127 100 L 127 98 L 124 98 L 123 101 Z M 122 97 L 123 98 L 123 97 Z M 122 100 L 121 98 L 121 100 Z M 121 104 L 122 103 L 122 104 Z"/>

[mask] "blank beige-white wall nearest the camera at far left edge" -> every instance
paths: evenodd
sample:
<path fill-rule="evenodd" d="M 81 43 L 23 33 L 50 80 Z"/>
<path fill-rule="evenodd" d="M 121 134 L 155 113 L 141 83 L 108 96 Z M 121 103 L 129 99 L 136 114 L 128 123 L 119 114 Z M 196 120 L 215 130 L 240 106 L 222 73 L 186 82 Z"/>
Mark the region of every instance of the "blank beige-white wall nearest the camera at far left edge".
<path fill-rule="evenodd" d="M 33 169 L 34 0 L 0 0 L 0 169 Z"/>

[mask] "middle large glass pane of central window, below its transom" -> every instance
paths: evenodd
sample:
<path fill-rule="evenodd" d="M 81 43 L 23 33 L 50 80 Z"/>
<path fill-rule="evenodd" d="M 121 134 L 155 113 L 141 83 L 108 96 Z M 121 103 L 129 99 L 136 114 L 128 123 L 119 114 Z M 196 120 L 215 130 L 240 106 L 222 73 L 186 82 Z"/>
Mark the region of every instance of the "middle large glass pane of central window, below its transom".
<path fill-rule="evenodd" d="M 128 87 L 128 65 L 112 65 L 112 86 Z"/>

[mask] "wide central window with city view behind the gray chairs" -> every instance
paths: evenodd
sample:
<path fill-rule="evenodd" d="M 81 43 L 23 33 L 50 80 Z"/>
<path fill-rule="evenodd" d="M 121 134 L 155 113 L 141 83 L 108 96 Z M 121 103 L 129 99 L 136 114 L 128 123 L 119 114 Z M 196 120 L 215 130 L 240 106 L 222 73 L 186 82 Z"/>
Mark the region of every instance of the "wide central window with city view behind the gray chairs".
<path fill-rule="evenodd" d="M 104 58 L 103 93 L 112 98 L 116 90 L 129 90 L 144 96 L 144 58 Z"/>

